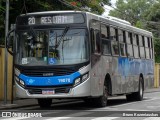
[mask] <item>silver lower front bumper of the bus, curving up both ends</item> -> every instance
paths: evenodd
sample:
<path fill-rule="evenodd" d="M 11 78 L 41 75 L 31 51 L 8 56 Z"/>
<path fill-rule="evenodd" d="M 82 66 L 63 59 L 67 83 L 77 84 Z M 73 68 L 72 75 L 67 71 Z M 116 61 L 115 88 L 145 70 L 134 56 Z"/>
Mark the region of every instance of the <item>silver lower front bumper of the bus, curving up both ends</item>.
<path fill-rule="evenodd" d="M 30 94 L 27 89 L 21 87 L 17 82 L 16 85 L 16 97 L 18 98 L 80 98 L 91 96 L 90 79 L 88 78 L 83 83 L 69 90 L 68 93 L 55 93 L 55 94 Z"/>

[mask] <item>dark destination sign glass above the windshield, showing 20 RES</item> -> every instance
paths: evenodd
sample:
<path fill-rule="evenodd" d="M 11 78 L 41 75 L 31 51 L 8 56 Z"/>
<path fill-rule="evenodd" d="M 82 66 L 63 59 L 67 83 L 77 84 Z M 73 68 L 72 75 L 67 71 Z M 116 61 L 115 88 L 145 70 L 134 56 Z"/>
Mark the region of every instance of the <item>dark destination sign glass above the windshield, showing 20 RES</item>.
<path fill-rule="evenodd" d="M 17 18 L 18 25 L 52 25 L 84 23 L 82 14 L 49 14 L 49 15 L 24 15 Z"/>

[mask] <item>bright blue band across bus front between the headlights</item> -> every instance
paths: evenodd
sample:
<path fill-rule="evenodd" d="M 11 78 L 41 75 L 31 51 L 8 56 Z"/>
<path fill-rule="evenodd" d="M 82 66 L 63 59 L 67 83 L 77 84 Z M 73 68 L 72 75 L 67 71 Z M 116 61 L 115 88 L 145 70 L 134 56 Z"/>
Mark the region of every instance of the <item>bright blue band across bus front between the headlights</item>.
<path fill-rule="evenodd" d="M 74 80 L 81 74 L 75 72 L 71 75 L 54 76 L 54 77 L 30 77 L 20 74 L 19 78 L 25 82 L 25 85 L 31 86 L 52 86 L 73 84 Z"/>

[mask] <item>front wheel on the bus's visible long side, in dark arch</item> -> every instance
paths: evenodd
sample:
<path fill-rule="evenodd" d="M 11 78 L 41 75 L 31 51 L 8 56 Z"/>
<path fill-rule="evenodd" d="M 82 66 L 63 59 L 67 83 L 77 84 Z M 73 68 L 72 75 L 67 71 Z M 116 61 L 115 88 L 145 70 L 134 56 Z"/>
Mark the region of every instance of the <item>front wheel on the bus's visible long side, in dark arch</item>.
<path fill-rule="evenodd" d="M 107 86 L 103 86 L 103 95 L 99 98 L 95 98 L 94 102 L 98 107 L 105 107 L 107 106 L 107 99 L 108 99 L 108 89 Z"/>

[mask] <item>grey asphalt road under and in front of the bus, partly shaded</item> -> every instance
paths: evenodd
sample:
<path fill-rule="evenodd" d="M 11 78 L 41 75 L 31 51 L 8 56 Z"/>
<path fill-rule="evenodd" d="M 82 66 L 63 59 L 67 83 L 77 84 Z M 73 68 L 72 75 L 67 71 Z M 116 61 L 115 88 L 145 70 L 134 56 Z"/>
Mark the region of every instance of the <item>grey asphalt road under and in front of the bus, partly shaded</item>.
<path fill-rule="evenodd" d="M 160 120 L 160 92 L 144 94 L 143 101 L 126 101 L 125 96 L 112 97 L 108 106 L 96 108 L 81 100 L 59 102 L 52 104 L 49 109 L 42 109 L 38 105 L 10 109 L 12 118 L 4 120 L 39 119 L 39 120 Z M 15 114 L 13 114 L 15 113 Z M 40 118 L 31 118 L 31 113 L 37 113 Z M 25 115 L 29 114 L 27 118 Z M 16 115 L 22 117 L 16 117 Z M 38 116 L 38 117 L 39 117 Z M 148 117 L 149 116 L 149 117 Z M 16 118 L 15 118 L 16 117 Z"/>

